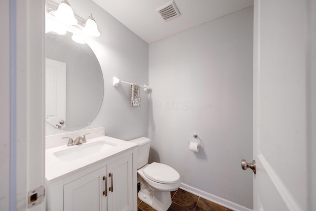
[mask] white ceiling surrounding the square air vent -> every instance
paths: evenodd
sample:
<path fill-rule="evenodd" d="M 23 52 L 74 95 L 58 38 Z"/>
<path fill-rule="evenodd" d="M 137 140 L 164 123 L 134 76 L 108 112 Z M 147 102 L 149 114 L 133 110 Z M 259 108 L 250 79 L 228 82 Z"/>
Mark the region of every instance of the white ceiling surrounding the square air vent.
<path fill-rule="evenodd" d="M 253 0 L 174 0 L 180 15 L 164 22 L 156 9 L 170 0 L 93 0 L 151 43 L 253 5 Z"/>

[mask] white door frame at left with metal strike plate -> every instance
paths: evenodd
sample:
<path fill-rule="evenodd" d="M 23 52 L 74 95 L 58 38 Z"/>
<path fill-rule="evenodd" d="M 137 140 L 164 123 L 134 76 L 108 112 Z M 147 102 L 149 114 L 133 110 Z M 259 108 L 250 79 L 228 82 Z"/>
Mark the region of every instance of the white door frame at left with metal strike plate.
<path fill-rule="evenodd" d="M 11 68 L 14 77 L 11 88 L 15 87 L 15 90 L 10 96 L 16 100 L 15 104 L 10 105 L 10 121 L 15 122 L 15 125 L 11 125 L 10 137 L 10 144 L 15 145 L 11 151 L 15 157 L 15 160 L 11 160 L 11 166 L 15 167 L 13 175 L 10 175 L 13 180 L 10 187 L 12 193 L 14 186 L 16 188 L 15 199 L 10 198 L 10 210 L 44 211 L 44 202 L 28 208 L 28 192 L 44 186 L 45 182 L 45 2 L 9 1 L 12 5 L 10 59 L 15 64 Z"/>

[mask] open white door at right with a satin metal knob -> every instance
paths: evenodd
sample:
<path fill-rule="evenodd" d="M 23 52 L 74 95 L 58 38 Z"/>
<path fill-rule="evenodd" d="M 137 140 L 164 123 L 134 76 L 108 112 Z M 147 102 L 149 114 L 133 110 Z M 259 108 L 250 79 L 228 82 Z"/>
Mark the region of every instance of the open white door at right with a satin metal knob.
<path fill-rule="evenodd" d="M 311 210 L 307 3 L 254 1 L 255 211 Z"/>

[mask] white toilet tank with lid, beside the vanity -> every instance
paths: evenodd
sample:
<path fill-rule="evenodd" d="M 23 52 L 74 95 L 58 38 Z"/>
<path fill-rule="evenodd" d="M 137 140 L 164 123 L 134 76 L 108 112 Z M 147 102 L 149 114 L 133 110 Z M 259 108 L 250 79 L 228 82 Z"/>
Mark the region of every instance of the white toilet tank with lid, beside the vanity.
<path fill-rule="evenodd" d="M 138 144 L 137 148 L 137 169 L 142 168 L 148 163 L 150 139 L 147 137 L 140 137 L 130 140 L 135 144 Z"/>

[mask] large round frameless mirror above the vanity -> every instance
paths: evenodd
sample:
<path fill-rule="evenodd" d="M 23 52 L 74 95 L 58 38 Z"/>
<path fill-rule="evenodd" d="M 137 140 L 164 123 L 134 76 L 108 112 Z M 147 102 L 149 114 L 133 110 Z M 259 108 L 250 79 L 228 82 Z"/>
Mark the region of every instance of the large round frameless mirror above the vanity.
<path fill-rule="evenodd" d="M 98 114 L 104 94 L 100 64 L 88 44 L 72 33 L 46 33 L 45 119 L 53 127 L 77 130 Z"/>

